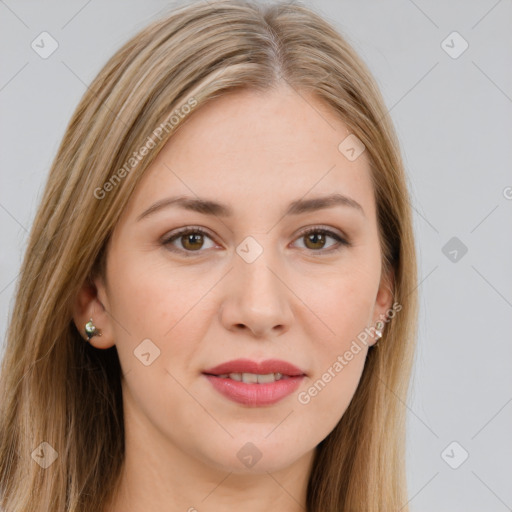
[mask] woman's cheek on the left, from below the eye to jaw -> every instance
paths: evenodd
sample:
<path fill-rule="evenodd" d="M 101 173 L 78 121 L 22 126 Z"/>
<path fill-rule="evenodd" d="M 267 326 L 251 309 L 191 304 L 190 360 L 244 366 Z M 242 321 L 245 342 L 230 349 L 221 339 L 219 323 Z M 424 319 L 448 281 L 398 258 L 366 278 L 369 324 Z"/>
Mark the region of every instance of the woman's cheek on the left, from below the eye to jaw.
<path fill-rule="evenodd" d="M 126 257 L 112 265 L 109 283 L 115 291 L 109 302 L 128 400 L 148 417 L 157 414 L 155 420 L 170 425 L 176 404 L 184 411 L 194 405 L 180 383 L 189 385 L 185 369 L 191 367 L 203 326 L 210 321 L 207 301 L 201 299 L 215 280 L 148 260 Z M 186 414 L 183 418 L 186 424 Z"/>

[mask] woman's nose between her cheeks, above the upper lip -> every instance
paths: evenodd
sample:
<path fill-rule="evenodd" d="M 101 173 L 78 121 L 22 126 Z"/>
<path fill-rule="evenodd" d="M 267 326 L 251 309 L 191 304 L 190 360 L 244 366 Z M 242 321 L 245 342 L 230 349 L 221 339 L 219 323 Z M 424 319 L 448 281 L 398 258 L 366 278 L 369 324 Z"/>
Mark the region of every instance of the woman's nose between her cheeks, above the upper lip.
<path fill-rule="evenodd" d="M 220 307 L 221 323 L 229 331 L 272 338 L 290 329 L 293 293 L 286 285 L 281 266 L 266 257 L 269 252 L 263 251 L 252 263 L 235 254 Z"/>

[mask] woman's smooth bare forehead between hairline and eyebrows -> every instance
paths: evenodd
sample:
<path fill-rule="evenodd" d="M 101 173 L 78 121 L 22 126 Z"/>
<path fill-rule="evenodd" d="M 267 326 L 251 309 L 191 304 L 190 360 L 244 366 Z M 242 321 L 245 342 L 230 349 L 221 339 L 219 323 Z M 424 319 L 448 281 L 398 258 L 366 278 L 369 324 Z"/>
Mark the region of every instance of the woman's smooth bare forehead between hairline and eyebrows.
<path fill-rule="evenodd" d="M 339 192 L 374 215 L 366 152 L 340 151 L 348 127 L 316 97 L 288 87 L 241 90 L 193 111 L 147 169 L 134 215 L 166 195 L 207 197 L 237 208 L 281 208 Z M 260 215 L 263 212 L 260 211 Z"/>

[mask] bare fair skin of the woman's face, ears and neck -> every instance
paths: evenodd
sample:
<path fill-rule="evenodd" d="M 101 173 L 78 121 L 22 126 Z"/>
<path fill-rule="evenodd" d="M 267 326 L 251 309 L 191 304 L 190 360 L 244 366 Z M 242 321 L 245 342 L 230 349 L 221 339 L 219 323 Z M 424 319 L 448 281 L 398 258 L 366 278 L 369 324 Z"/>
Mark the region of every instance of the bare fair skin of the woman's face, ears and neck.
<path fill-rule="evenodd" d="M 312 96 L 238 91 L 190 115 L 147 170 L 110 240 L 105 278 L 75 305 L 77 327 L 93 317 L 102 336 L 91 343 L 116 345 L 124 373 L 126 464 L 108 512 L 304 510 L 315 447 L 349 405 L 368 347 L 308 404 L 298 394 L 392 304 L 366 152 L 349 161 L 338 150 L 348 134 Z M 337 205 L 283 216 L 291 201 L 333 192 L 364 215 Z M 137 221 L 176 195 L 235 215 L 168 207 Z M 302 234 L 316 225 L 351 245 Z M 186 226 L 208 234 L 163 243 Z M 247 236 L 263 250 L 251 263 L 236 252 Z M 148 338 L 160 355 L 146 366 L 134 350 Z M 307 377 L 277 404 L 240 405 L 201 373 L 240 357 L 284 359 Z M 261 453 L 250 468 L 237 457 L 247 442 Z"/>

